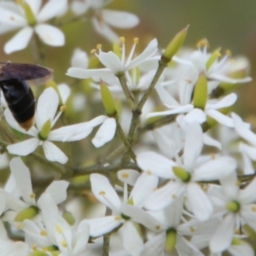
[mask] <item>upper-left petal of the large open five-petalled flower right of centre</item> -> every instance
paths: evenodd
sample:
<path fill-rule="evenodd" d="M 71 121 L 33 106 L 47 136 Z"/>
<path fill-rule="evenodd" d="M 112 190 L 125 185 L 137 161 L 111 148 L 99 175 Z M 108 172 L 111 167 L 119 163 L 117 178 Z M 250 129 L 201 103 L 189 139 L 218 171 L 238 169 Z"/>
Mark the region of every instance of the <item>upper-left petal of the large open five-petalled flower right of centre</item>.
<path fill-rule="evenodd" d="M 155 152 L 144 152 L 137 155 L 137 165 L 142 168 L 144 172 L 152 172 L 158 177 L 175 177 L 172 172 L 172 166 L 176 166 L 176 164 L 172 160 Z"/>

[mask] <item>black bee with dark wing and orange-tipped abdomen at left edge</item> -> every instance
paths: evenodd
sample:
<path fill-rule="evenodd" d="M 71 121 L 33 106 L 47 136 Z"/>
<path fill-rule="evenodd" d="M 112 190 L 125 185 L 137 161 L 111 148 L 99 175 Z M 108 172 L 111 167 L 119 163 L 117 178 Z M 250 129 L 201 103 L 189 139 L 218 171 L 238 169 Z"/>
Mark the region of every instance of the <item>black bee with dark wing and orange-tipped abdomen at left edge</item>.
<path fill-rule="evenodd" d="M 38 65 L 0 62 L 0 88 L 19 125 L 28 131 L 34 123 L 35 97 L 30 85 L 41 85 L 53 78 L 53 70 Z M 47 104 L 47 102 L 45 102 Z"/>

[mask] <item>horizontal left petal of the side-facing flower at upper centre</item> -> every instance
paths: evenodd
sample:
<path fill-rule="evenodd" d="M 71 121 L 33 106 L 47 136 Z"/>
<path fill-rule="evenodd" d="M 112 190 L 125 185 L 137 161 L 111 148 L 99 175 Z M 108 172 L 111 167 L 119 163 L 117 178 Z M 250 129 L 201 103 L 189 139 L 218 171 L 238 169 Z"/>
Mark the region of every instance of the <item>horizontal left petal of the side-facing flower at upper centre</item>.
<path fill-rule="evenodd" d="M 67 76 L 77 79 L 89 79 L 92 77 L 102 77 L 102 75 L 111 73 L 108 68 L 101 69 L 84 69 L 81 67 L 70 67 L 67 70 Z"/>

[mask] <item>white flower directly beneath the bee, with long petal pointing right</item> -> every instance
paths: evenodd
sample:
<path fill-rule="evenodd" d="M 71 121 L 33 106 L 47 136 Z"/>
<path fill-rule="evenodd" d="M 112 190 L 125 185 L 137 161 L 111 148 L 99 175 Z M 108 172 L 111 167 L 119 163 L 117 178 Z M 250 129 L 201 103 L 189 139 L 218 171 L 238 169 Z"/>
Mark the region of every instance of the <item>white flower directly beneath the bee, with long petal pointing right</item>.
<path fill-rule="evenodd" d="M 45 102 L 47 102 L 47 104 L 45 104 Z M 41 145 L 44 149 L 45 157 L 48 160 L 65 164 L 68 160 L 66 154 L 64 154 L 61 149 L 57 148 L 54 143 L 51 143 L 51 141 L 73 142 L 81 140 L 87 137 L 96 125 L 102 124 L 107 118 L 105 116 L 98 116 L 96 119 L 90 120 L 90 122 L 67 125 L 54 131 L 48 131 L 48 133 L 46 132 L 46 136 L 42 137 L 42 131 L 45 129 L 45 126 L 49 125 L 51 130 L 56 120 L 60 117 L 61 112 L 55 116 L 58 105 L 59 96 L 57 92 L 53 88 L 44 90 L 44 93 L 38 99 L 37 112 L 35 115 L 37 128 L 32 126 L 29 131 L 22 129 L 15 121 L 9 109 L 6 109 L 4 115 L 9 125 L 15 128 L 15 130 L 33 137 L 23 142 L 9 145 L 7 147 L 9 153 L 27 155 L 31 154 Z"/>

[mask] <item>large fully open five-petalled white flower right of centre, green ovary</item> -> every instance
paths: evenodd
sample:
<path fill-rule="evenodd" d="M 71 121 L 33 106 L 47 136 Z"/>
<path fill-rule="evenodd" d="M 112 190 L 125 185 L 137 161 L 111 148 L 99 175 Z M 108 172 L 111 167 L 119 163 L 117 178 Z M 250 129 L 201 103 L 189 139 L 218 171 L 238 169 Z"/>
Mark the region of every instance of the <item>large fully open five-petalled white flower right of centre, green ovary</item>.
<path fill-rule="evenodd" d="M 196 218 L 206 221 L 211 217 L 213 212 L 211 201 L 197 182 L 214 181 L 229 175 L 230 172 L 235 171 L 236 161 L 226 156 L 202 162 L 199 160 L 202 146 L 201 126 L 194 122 L 187 125 L 185 130 L 183 159 L 174 162 L 154 152 L 137 156 L 138 166 L 143 171 L 171 179 L 148 195 L 145 207 L 153 211 L 161 210 L 175 201 L 178 196 L 186 193 L 189 208 Z"/>

